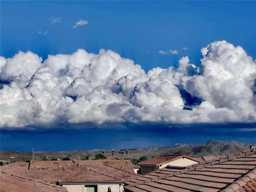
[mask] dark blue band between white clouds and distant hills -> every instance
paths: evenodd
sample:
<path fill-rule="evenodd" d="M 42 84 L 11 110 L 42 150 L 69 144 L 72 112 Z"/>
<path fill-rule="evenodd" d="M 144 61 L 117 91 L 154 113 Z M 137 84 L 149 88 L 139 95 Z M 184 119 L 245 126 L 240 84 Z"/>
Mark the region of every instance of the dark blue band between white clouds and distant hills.
<path fill-rule="evenodd" d="M 1 150 L 74 151 L 122 149 L 173 143 L 204 143 L 211 139 L 256 143 L 256 123 L 228 124 L 120 124 L 112 129 L 75 128 L 86 124 L 67 124 L 50 130 L 1 131 Z M 38 127 L 37 127 L 38 128 Z"/>

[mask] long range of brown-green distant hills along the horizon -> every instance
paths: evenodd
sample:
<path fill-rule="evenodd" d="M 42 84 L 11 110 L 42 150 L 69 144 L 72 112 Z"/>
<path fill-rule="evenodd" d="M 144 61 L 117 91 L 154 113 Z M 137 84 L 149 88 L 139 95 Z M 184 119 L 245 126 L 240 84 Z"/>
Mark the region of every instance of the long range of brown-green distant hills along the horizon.
<path fill-rule="evenodd" d="M 146 156 L 151 158 L 157 155 L 178 155 L 184 154 L 194 157 L 203 156 L 221 156 L 248 149 L 250 145 L 240 143 L 237 141 L 219 141 L 210 140 L 204 144 L 183 144 L 176 143 L 171 146 L 150 146 L 146 148 L 138 147 L 134 149 L 122 150 L 101 150 L 95 149 L 90 151 L 73 151 L 73 152 L 52 152 L 52 151 L 37 151 L 34 154 L 35 160 L 42 160 L 43 157 L 63 159 L 69 157 L 70 159 L 89 158 L 93 159 L 96 154 L 102 154 L 105 157 L 118 158 L 118 159 L 138 159 L 139 157 Z M 15 162 L 15 161 L 28 161 L 31 160 L 31 152 L 22 151 L 6 151 L 1 150 L 0 161 Z M 135 162 L 135 161 L 134 161 Z"/>

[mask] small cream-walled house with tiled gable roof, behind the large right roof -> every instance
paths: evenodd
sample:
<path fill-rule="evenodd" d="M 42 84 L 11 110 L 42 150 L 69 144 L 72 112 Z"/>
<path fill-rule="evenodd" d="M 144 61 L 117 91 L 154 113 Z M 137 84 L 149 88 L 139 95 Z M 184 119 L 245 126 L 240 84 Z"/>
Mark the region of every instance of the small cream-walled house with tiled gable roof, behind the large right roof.
<path fill-rule="evenodd" d="M 167 156 L 156 156 L 146 161 L 140 162 L 137 165 L 140 166 L 140 174 L 147 174 L 152 171 L 163 169 L 167 165 L 172 166 L 188 166 L 199 162 L 202 159 L 189 157 L 187 155 L 167 155 Z"/>

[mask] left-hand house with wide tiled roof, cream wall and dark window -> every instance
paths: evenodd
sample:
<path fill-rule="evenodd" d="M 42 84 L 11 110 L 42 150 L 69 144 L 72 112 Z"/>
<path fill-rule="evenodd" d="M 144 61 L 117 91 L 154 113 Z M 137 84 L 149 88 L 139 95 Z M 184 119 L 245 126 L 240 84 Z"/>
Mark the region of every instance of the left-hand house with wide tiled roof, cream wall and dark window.
<path fill-rule="evenodd" d="M 23 162 L 1 167 L 20 177 L 66 187 L 69 192 L 123 191 L 124 181 L 135 179 L 129 160 L 102 159 L 95 161 L 31 161 L 26 170 Z M 8 170 L 9 169 L 9 170 Z"/>

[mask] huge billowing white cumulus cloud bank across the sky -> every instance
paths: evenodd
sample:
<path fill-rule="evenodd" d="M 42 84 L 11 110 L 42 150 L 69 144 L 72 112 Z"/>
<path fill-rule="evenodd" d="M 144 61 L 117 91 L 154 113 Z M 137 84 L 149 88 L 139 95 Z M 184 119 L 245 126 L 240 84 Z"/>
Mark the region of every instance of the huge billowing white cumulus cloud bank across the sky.
<path fill-rule="evenodd" d="M 255 60 L 226 41 L 202 55 L 199 67 L 184 57 L 148 73 L 110 50 L 0 57 L 1 126 L 256 122 Z"/>

